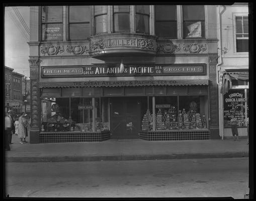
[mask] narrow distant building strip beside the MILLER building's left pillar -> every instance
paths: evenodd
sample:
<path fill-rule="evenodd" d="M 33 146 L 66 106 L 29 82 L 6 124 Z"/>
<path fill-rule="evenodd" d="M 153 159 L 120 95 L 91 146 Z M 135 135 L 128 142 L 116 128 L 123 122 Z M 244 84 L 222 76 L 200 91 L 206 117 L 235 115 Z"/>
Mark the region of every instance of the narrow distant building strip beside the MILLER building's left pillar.
<path fill-rule="evenodd" d="M 22 95 L 23 95 L 23 106 L 22 111 L 30 115 L 30 80 L 27 77 L 22 79 Z M 27 102 L 24 100 L 27 100 Z M 26 109 L 26 111 L 25 111 Z"/>

